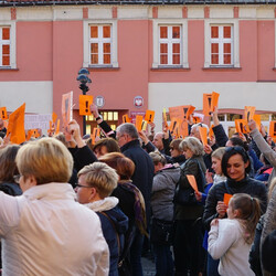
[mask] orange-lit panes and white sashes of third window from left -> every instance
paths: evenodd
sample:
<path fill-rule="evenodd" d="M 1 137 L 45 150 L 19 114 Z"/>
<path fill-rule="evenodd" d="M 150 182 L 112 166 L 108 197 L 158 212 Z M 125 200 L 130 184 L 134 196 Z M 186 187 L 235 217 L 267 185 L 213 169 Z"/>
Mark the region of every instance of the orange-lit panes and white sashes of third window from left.
<path fill-rule="evenodd" d="M 160 25 L 159 26 L 159 64 L 180 65 L 181 64 L 181 26 Z"/>

